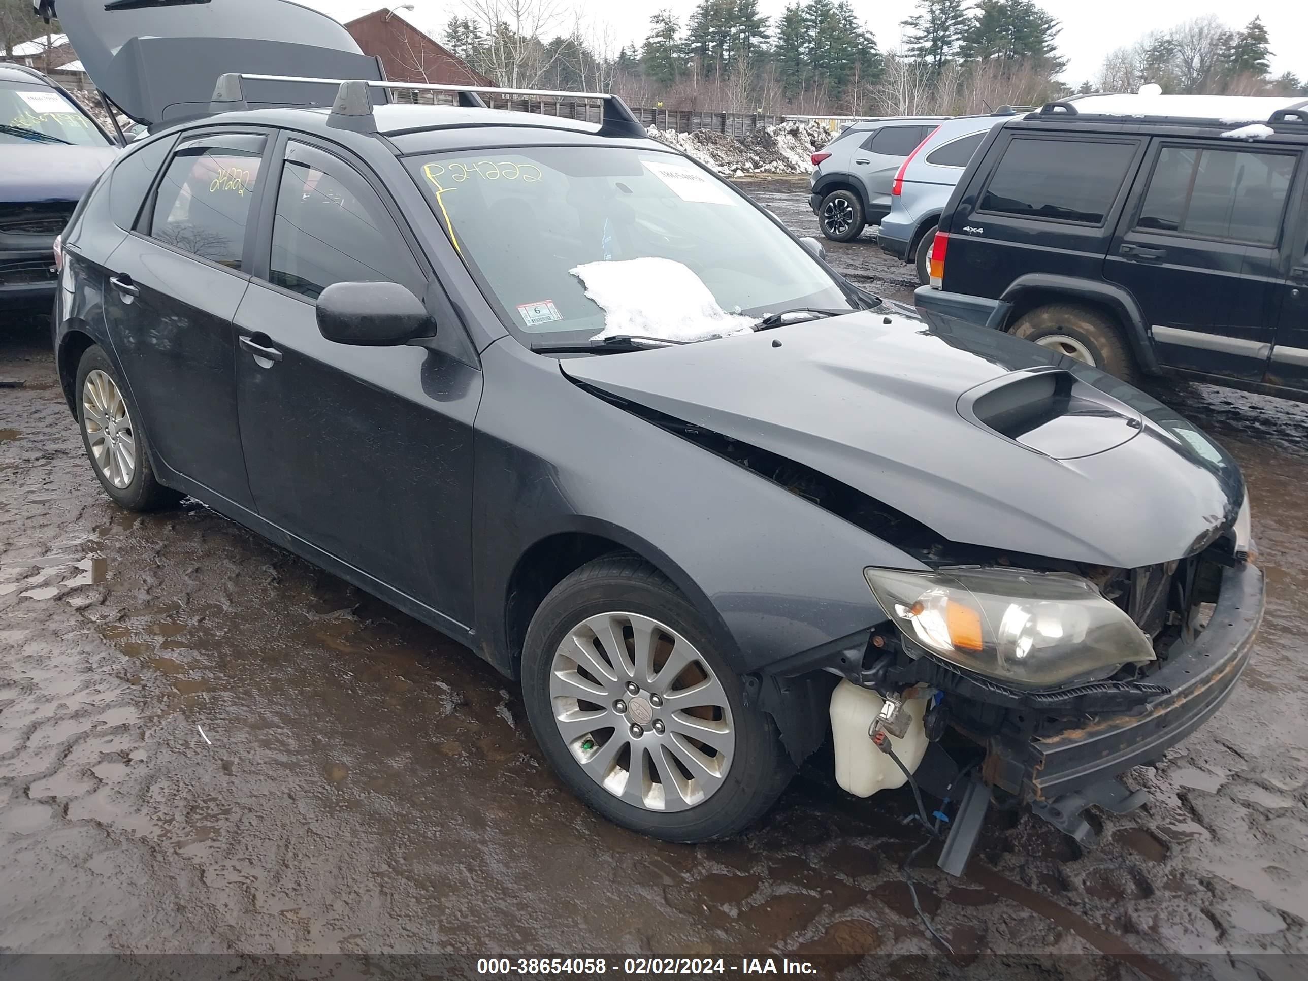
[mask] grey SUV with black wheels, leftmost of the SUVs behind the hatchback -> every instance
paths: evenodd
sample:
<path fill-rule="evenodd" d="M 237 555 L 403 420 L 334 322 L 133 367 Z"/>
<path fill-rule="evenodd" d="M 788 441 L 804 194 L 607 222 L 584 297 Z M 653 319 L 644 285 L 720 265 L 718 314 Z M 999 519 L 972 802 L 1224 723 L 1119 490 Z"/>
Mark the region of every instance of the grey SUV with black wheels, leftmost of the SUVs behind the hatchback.
<path fill-rule="evenodd" d="M 896 116 L 854 123 L 812 156 L 808 199 L 821 233 L 852 242 L 889 215 L 891 183 L 904 158 L 946 116 Z"/>

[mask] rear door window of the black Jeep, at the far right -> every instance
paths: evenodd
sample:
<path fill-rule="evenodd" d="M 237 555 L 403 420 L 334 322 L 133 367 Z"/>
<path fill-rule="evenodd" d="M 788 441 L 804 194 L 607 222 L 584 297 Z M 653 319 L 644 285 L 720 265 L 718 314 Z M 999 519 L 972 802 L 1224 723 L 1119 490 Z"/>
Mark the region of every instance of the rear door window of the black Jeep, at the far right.
<path fill-rule="evenodd" d="M 1137 228 L 1274 246 L 1294 153 L 1164 146 Z"/>

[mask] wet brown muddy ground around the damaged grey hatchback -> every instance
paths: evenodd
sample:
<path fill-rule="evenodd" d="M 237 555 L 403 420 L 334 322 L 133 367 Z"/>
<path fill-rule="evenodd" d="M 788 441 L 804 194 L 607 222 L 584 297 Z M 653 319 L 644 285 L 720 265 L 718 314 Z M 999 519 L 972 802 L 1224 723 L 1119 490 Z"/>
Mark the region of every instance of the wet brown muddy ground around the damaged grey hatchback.
<path fill-rule="evenodd" d="M 752 191 L 797 230 L 795 186 Z M 829 246 L 870 289 L 912 275 Z M 753 832 L 667 845 L 545 768 L 513 684 L 470 651 L 191 502 L 99 490 L 47 327 L 0 322 L 0 951 L 842 954 L 1031 977 L 1299 976 L 1308 952 L 1308 409 L 1163 398 L 1245 468 L 1267 617 L 1223 710 L 1083 850 L 994 814 L 969 875 L 918 859 L 955 950 L 926 961 L 900 863 L 910 798 L 818 770 Z M 1146 955 L 1133 959 L 1131 954 Z M 1176 963 L 1169 955 L 1209 955 Z M 994 955 L 1005 955 L 995 960 Z M 1095 959 L 1086 955 L 1103 955 Z M 3 961 L 0 961 L 3 963 Z M 3 971 L 0 971 L 3 973 Z"/>

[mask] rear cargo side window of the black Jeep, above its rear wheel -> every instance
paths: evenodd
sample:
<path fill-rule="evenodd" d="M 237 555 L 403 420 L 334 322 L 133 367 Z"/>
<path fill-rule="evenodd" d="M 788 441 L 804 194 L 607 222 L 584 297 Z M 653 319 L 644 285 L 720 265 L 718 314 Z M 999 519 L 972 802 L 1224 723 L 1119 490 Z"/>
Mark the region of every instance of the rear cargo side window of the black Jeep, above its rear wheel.
<path fill-rule="evenodd" d="M 1101 225 L 1137 145 L 1015 139 L 995 167 L 980 209 Z"/>

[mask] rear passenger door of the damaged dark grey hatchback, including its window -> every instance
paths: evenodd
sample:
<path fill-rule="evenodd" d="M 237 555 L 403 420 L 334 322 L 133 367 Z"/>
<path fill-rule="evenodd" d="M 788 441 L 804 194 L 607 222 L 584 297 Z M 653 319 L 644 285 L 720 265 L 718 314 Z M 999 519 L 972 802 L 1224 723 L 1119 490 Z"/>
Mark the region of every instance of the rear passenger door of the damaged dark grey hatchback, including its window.
<path fill-rule="evenodd" d="M 268 143 L 256 131 L 182 139 L 109 256 L 105 296 L 114 351 L 161 462 L 247 509 L 232 318 L 250 285 Z"/>

